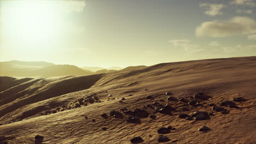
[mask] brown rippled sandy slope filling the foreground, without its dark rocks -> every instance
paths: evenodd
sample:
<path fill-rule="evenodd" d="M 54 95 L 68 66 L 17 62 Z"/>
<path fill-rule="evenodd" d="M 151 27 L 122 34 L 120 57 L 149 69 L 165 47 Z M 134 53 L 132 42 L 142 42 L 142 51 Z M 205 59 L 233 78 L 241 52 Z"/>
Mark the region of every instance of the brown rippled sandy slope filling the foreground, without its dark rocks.
<path fill-rule="evenodd" d="M 43 143 L 131 143 L 135 136 L 141 136 L 142 143 L 158 143 L 158 129 L 168 125 L 175 130 L 164 134 L 170 139 L 165 143 L 256 142 L 256 57 L 163 63 L 134 71 L 33 79 L 7 86 L 3 86 L 7 83 L 6 77 L 4 83 L 2 79 L 0 88 L 5 88 L 0 93 L 0 123 L 3 124 L 0 139 L 8 143 L 34 143 L 37 134 L 44 136 Z M 201 105 L 191 106 L 182 101 L 166 100 L 165 92 L 187 100 L 203 92 L 210 99 L 198 100 Z M 103 102 L 75 108 L 77 100 L 92 94 L 97 94 Z M 109 94 L 113 97 L 107 97 Z M 128 97 L 129 94 L 133 95 Z M 153 98 L 146 99 L 146 96 Z M 123 97 L 126 100 L 120 103 Z M 239 108 L 222 106 L 228 114 L 213 111 L 208 105 L 219 105 L 220 101 L 234 97 L 246 101 L 235 101 Z M 147 107 L 154 101 L 170 104 L 175 111 L 164 115 Z M 123 112 L 124 118 L 109 116 L 109 110 L 120 111 L 123 107 L 144 109 L 156 118 L 141 118 L 141 123 L 135 124 L 126 122 L 128 116 Z M 182 107 L 189 111 L 182 111 Z M 49 110 L 51 114 L 46 115 Z M 196 110 L 214 115 L 203 121 L 179 118 L 181 113 L 191 115 Z M 101 113 L 107 113 L 109 118 L 102 118 Z M 11 121 L 14 123 L 9 123 Z M 211 130 L 198 131 L 201 125 Z M 102 130 L 103 127 L 107 130 Z"/>

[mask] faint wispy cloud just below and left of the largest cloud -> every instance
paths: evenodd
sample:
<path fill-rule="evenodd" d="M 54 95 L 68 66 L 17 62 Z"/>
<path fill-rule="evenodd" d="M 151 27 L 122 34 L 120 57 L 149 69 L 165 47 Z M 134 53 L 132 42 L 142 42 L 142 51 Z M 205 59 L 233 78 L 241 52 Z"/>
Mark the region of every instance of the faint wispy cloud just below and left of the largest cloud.
<path fill-rule="evenodd" d="M 188 39 L 174 39 L 168 42 L 172 43 L 174 46 L 183 47 L 183 49 L 187 52 L 198 52 L 203 50 L 198 49 L 199 45 L 191 43 L 191 41 Z"/>

